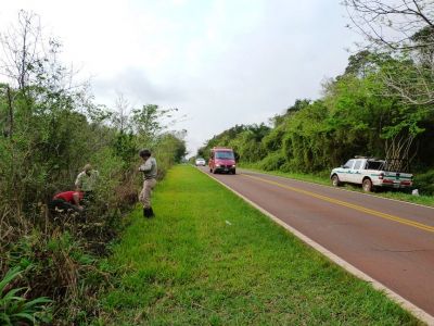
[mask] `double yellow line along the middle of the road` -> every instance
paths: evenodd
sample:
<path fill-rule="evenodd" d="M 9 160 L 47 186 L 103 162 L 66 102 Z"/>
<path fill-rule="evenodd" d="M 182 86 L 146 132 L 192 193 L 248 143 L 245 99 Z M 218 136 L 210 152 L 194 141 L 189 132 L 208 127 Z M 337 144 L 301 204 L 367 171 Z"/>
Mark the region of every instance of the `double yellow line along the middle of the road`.
<path fill-rule="evenodd" d="M 414 221 L 411 221 L 411 220 L 398 217 L 398 216 L 395 216 L 395 215 L 382 213 L 382 212 L 374 211 L 374 210 L 370 210 L 370 209 L 367 209 L 367 208 L 363 208 L 363 206 L 360 206 L 360 205 L 356 205 L 356 204 L 353 204 L 353 203 L 349 203 L 349 202 L 346 202 L 346 201 L 337 200 L 337 199 L 334 199 L 334 198 L 331 198 L 331 197 L 327 197 L 327 196 L 322 196 L 322 195 L 315 193 L 315 192 L 311 192 L 311 191 L 298 189 L 298 188 L 291 187 L 291 186 L 288 186 L 288 185 L 282 185 L 282 184 L 279 184 L 277 181 L 271 181 L 271 180 L 264 179 L 264 178 L 260 178 L 260 177 L 246 175 L 246 174 L 242 174 L 242 176 L 247 177 L 247 178 L 252 178 L 252 179 L 256 179 L 256 180 L 260 180 L 263 183 L 275 185 L 275 186 L 278 186 L 278 187 L 281 187 L 281 188 L 284 188 L 284 189 L 288 189 L 288 190 L 292 190 L 292 191 L 295 191 L 295 192 L 299 192 L 299 193 L 303 193 L 303 195 L 307 195 L 307 196 L 310 196 L 310 197 L 315 197 L 315 198 L 321 199 L 323 201 L 331 202 L 331 203 L 334 203 L 334 204 L 337 204 L 337 205 L 341 205 L 341 206 L 349 208 L 349 209 L 353 209 L 353 210 L 356 210 L 356 211 L 359 211 L 359 212 L 363 212 L 363 213 L 367 213 L 367 214 L 370 214 L 370 215 L 373 215 L 373 216 L 376 216 L 376 217 L 394 221 L 394 222 L 397 222 L 397 223 L 400 223 L 400 224 L 409 225 L 409 226 L 417 227 L 417 228 L 420 228 L 420 229 L 423 229 L 423 230 L 426 230 L 426 231 L 430 231 L 430 233 L 434 233 L 434 226 L 431 226 L 431 225 L 426 225 L 426 224 L 418 223 L 418 222 L 414 222 Z"/>

